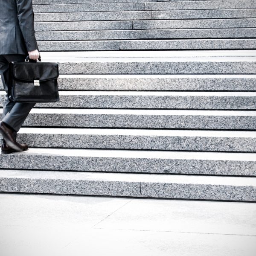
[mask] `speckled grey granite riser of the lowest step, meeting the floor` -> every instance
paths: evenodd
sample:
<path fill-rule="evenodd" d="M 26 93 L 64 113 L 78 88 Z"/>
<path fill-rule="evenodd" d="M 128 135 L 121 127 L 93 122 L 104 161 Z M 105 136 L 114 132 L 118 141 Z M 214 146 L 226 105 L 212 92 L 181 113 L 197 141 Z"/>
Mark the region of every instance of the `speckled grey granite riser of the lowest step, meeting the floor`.
<path fill-rule="evenodd" d="M 0 192 L 256 201 L 253 186 L 0 178 Z"/>

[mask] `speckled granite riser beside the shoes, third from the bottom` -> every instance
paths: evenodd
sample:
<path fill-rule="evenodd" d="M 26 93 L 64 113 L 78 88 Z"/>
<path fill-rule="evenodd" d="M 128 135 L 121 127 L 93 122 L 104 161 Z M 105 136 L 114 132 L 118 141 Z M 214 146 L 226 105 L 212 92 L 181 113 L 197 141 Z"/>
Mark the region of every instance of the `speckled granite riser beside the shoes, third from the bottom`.
<path fill-rule="evenodd" d="M 99 134 L 19 134 L 17 140 L 40 148 L 101 148 L 256 152 L 256 138 L 169 137 Z"/>

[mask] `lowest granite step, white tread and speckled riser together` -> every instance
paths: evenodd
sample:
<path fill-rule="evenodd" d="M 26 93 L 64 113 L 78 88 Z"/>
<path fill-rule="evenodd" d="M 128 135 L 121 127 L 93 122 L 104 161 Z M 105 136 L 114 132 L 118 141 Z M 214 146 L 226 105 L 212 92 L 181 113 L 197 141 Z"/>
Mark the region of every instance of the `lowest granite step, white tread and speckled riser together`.
<path fill-rule="evenodd" d="M 256 201 L 256 178 L 1 170 L 0 192 Z"/>

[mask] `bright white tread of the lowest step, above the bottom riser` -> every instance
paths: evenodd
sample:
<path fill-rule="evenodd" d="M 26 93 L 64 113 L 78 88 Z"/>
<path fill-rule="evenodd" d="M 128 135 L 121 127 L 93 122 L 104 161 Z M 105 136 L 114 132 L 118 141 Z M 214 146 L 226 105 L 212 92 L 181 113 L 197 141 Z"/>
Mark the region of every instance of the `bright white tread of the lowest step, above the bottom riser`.
<path fill-rule="evenodd" d="M 0 170 L 1 178 L 23 179 L 58 179 L 58 180 L 88 180 L 88 181 L 121 181 L 135 183 L 177 183 L 177 184 L 207 184 L 224 186 L 253 186 L 256 189 L 256 177 L 220 177 L 201 175 L 147 175 L 97 172 L 54 172 Z"/>

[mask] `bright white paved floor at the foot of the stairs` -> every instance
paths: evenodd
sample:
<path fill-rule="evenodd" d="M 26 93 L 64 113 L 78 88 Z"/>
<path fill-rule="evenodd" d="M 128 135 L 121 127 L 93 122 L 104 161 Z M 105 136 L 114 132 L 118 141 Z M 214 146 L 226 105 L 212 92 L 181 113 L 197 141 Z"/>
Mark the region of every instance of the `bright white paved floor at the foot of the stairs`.
<path fill-rule="evenodd" d="M 0 194 L 0 256 L 255 256 L 256 204 Z"/>

